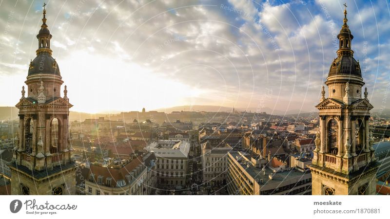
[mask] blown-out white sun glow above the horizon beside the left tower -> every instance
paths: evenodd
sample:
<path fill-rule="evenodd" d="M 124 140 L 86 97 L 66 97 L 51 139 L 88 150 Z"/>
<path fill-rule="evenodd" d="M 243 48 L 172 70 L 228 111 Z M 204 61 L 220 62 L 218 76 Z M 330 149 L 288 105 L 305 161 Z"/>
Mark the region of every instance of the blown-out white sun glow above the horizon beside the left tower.
<path fill-rule="evenodd" d="M 152 110 L 187 104 L 204 93 L 114 57 L 81 51 L 61 60 L 61 76 L 74 111 Z"/>

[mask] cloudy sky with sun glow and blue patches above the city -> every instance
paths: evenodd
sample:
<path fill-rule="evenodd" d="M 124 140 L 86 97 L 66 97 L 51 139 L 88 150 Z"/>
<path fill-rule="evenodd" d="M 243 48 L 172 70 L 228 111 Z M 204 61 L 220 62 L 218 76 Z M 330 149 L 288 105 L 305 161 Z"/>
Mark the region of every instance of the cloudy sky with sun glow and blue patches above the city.
<path fill-rule="evenodd" d="M 344 17 L 344 0 L 46 3 L 71 110 L 91 113 L 182 105 L 316 111 Z M 370 102 L 389 109 L 389 2 L 346 3 Z M 42 4 L 0 1 L 0 106 L 20 99 Z"/>

